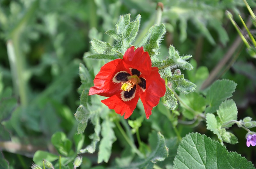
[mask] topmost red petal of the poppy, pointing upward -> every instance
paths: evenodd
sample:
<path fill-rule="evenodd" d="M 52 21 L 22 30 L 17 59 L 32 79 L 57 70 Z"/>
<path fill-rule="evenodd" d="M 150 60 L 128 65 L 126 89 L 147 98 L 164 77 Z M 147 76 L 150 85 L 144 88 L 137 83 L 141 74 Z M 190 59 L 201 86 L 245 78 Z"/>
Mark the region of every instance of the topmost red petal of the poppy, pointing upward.
<path fill-rule="evenodd" d="M 134 51 L 134 46 L 127 49 L 124 53 L 124 66 L 126 69 L 134 68 L 141 72 L 141 76 L 149 75 L 151 72 L 151 60 L 148 52 L 144 52 L 143 47 Z"/>

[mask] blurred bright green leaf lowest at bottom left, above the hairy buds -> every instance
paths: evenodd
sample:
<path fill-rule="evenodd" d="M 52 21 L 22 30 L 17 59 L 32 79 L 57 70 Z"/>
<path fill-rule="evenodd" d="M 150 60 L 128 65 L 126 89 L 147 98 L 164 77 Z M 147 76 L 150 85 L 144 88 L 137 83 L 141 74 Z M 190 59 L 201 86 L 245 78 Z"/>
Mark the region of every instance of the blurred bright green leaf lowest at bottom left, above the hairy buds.
<path fill-rule="evenodd" d="M 33 161 L 35 162 L 35 164 L 43 166 L 43 159 L 46 159 L 47 161 L 52 162 L 59 159 L 59 156 L 47 151 L 41 151 L 41 150 L 36 151 L 36 153 L 33 156 Z"/>

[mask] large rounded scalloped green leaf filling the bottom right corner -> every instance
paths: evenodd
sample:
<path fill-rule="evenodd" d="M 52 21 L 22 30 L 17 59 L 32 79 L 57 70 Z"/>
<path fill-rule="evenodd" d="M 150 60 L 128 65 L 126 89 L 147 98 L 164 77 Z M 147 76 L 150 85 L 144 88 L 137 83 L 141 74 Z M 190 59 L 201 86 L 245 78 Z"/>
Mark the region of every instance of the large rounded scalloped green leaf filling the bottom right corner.
<path fill-rule="evenodd" d="M 199 133 L 182 138 L 173 161 L 175 169 L 183 168 L 254 168 L 252 162 L 236 152 Z"/>

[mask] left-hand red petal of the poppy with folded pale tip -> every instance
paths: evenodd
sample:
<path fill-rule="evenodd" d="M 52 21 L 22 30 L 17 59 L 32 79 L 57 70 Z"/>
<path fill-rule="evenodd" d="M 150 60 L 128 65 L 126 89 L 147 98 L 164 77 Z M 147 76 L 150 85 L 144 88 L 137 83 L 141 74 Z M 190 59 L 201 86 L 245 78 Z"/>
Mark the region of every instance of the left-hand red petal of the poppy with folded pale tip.
<path fill-rule="evenodd" d="M 110 97 L 120 90 L 120 84 L 112 81 L 118 71 L 124 70 L 122 59 L 112 60 L 101 67 L 100 72 L 93 80 L 94 86 L 90 88 L 89 95 Z"/>

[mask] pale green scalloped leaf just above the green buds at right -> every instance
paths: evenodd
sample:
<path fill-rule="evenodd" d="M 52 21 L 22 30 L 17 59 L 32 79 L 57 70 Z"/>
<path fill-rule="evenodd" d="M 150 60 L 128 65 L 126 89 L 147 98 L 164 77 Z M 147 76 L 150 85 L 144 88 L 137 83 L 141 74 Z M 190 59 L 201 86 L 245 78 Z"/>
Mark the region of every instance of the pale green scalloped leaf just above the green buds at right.
<path fill-rule="evenodd" d="M 220 104 L 220 108 L 217 110 L 217 114 L 220 117 L 220 123 L 225 124 L 231 120 L 237 120 L 237 107 L 234 100 L 226 100 Z M 232 125 L 222 126 L 231 127 Z"/>

